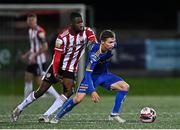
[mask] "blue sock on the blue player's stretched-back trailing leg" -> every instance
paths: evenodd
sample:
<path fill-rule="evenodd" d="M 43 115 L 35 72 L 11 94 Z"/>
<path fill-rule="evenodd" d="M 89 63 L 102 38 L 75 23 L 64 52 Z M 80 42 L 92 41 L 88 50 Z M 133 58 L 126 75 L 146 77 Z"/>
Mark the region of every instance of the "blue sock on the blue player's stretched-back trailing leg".
<path fill-rule="evenodd" d="M 60 109 L 60 111 L 58 111 L 58 113 L 56 114 L 56 119 L 60 119 L 62 118 L 66 113 L 68 113 L 69 111 L 72 110 L 72 108 L 74 106 L 76 106 L 77 104 L 74 104 L 73 99 L 69 99 Z"/>

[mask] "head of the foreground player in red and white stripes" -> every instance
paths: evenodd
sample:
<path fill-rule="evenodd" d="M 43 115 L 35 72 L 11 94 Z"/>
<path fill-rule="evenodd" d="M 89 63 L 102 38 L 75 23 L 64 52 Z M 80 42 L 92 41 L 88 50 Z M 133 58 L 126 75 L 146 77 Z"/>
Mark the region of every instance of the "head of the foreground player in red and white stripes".
<path fill-rule="evenodd" d="M 75 32 L 84 30 L 83 19 L 80 13 L 72 12 L 70 15 L 71 26 Z"/>

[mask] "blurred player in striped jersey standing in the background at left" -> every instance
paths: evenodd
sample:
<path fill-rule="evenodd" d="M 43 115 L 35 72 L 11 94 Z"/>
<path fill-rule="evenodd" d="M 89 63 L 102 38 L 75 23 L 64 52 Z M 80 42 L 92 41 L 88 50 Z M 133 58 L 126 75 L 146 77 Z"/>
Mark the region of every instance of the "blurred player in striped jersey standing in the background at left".
<path fill-rule="evenodd" d="M 35 14 L 27 16 L 27 24 L 29 26 L 30 49 L 22 55 L 22 59 L 28 63 L 25 72 L 24 99 L 33 91 L 32 81 L 34 77 L 37 84 L 40 85 L 42 75 L 45 73 L 46 53 L 48 50 L 46 32 L 37 24 Z M 50 87 L 48 92 L 54 97 L 58 97 L 58 93 L 53 87 Z"/>

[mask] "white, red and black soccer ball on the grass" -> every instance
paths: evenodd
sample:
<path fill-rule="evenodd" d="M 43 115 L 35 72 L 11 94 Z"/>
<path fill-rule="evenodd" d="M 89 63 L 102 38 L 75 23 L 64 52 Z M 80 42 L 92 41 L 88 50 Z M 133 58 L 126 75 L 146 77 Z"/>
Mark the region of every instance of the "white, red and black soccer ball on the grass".
<path fill-rule="evenodd" d="M 144 107 L 140 111 L 140 121 L 143 123 L 152 123 L 156 119 L 156 111 L 150 107 Z"/>

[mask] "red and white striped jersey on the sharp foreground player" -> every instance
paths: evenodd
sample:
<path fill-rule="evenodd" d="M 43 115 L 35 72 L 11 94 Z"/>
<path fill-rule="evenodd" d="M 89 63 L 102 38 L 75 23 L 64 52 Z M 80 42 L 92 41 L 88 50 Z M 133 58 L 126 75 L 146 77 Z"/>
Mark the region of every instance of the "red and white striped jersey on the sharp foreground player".
<path fill-rule="evenodd" d="M 84 27 L 84 31 L 80 33 L 73 32 L 70 27 L 59 33 L 55 50 L 61 51 L 62 70 L 77 72 L 78 62 L 85 52 L 88 41 L 97 41 L 94 32 L 89 27 Z"/>

